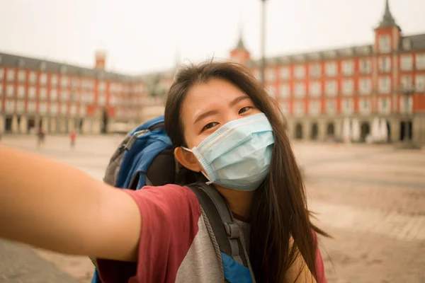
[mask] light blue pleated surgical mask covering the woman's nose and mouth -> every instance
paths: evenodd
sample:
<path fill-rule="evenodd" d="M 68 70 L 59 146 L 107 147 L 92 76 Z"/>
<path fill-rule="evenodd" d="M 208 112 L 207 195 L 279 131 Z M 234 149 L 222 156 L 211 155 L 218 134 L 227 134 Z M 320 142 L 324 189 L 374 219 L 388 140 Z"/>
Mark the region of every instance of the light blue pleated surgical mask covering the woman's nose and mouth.
<path fill-rule="evenodd" d="M 232 120 L 191 151 L 210 183 L 234 190 L 256 190 L 266 178 L 274 137 L 263 113 Z"/>

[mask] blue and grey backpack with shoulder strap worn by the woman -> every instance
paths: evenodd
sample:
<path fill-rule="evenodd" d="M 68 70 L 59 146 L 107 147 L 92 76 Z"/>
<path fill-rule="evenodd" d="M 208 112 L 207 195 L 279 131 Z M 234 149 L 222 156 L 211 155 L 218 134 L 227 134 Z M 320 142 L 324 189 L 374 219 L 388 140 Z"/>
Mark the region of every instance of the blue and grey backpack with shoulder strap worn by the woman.
<path fill-rule="evenodd" d="M 188 185 L 198 197 L 208 217 L 222 255 L 225 282 L 255 282 L 240 239 L 240 228 L 234 223 L 227 202 L 205 180 L 187 178 L 184 168 L 174 158 L 171 140 L 159 116 L 132 130 L 111 157 L 103 181 L 120 188 L 140 190 L 145 185 Z M 184 176 L 184 177 L 183 177 Z M 91 258 L 96 265 L 96 259 Z M 97 269 L 91 283 L 101 283 Z"/>

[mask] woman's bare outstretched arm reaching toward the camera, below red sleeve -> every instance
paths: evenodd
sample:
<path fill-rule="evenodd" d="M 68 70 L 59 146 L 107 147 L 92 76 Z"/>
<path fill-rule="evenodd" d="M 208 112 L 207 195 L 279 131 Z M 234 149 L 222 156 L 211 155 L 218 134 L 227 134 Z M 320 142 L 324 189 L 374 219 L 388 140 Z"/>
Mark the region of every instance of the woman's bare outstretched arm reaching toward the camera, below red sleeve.
<path fill-rule="evenodd" d="M 77 168 L 0 146 L 0 237 L 74 255 L 135 260 L 135 201 Z"/>

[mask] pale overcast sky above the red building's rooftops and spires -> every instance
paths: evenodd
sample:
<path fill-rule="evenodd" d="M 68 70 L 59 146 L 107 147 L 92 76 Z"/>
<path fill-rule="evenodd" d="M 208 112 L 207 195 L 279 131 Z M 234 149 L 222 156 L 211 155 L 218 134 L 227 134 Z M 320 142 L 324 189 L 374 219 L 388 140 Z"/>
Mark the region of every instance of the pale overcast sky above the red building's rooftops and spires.
<path fill-rule="evenodd" d="M 268 0 L 268 55 L 371 43 L 384 0 Z M 390 0 L 404 34 L 425 33 L 425 0 Z M 242 27 L 259 56 L 260 0 L 0 0 L 0 52 L 126 74 L 171 67 L 176 57 L 225 58 Z"/>

